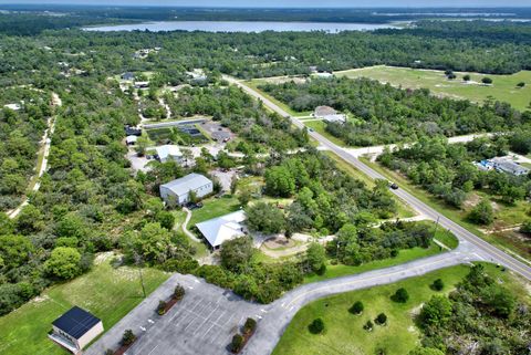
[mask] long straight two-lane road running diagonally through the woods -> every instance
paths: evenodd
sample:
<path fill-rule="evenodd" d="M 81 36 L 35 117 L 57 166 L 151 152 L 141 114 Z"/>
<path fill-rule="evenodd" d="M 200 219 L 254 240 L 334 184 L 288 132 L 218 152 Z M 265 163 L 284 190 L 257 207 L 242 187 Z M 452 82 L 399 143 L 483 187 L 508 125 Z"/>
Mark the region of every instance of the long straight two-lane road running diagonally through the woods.
<path fill-rule="evenodd" d="M 273 103 L 272 101 L 268 100 L 260 93 L 256 92 L 251 87 L 247 86 L 244 83 L 230 77 L 230 76 L 223 76 L 228 82 L 241 87 L 243 91 L 246 91 L 248 94 L 251 96 L 260 100 L 263 102 L 266 106 L 271 108 L 272 111 L 277 112 L 278 114 L 290 118 L 296 127 L 303 128 L 304 124 L 299 121 L 296 117 L 292 117 L 288 112 L 285 112 L 282 107 Z M 384 176 L 368 167 L 367 165 L 363 164 L 355 156 L 353 156 L 351 153 L 347 150 L 343 149 L 342 147 L 337 146 L 336 144 L 330 142 L 322 135 L 320 135 L 316 132 L 309 132 L 310 136 L 317 140 L 321 145 L 324 147 L 329 148 L 333 153 L 335 153 L 337 156 L 343 158 L 345 161 L 348 164 L 353 165 L 355 168 L 361 170 L 362 173 L 366 174 L 368 177 L 373 179 L 385 179 Z M 475 252 L 478 255 L 481 255 L 481 259 L 485 259 L 490 262 L 499 263 L 504 265 L 508 269 L 513 270 L 514 272 L 521 274 L 528 280 L 531 280 L 531 267 L 509 254 L 506 252 L 499 250 L 498 248 L 491 246 L 490 243 L 486 242 L 481 238 L 477 237 L 476 234 L 471 233 L 467 229 L 462 228 L 458 223 L 454 222 L 449 218 L 446 218 L 445 216 L 438 213 L 435 209 L 431 207 L 427 206 L 416 197 L 414 197 L 412 194 L 403 190 L 403 189 L 397 189 L 397 190 L 391 190 L 393 194 L 398 196 L 400 199 L 403 199 L 406 203 L 408 203 L 410 207 L 413 207 L 416 211 L 419 213 L 433 219 L 433 220 L 439 220 L 439 223 L 442 228 L 446 228 L 450 230 L 458 239 L 459 242 L 462 244 L 470 244 L 471 248 L 475 249 Z"/>

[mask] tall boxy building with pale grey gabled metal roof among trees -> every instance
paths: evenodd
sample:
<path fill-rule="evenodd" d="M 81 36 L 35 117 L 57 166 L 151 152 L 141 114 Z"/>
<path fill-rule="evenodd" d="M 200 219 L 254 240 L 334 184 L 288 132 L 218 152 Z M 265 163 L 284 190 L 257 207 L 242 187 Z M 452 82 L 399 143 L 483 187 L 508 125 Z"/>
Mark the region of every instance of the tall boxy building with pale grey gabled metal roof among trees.
<path fill-rule="evenodd" d="M 197 198 L 201 198 L 212 194 L 214 184 L 209 178 L 194 173 L 160 185 L 160 197 L 170 206 L 187 203 L 190 191 L 194 191 Z"/>

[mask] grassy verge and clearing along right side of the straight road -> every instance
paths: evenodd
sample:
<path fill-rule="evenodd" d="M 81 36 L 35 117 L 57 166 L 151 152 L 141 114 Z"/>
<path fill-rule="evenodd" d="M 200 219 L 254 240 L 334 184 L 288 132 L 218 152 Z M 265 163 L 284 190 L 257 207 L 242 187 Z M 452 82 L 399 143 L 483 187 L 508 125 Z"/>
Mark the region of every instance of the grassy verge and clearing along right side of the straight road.
<path fill-rule="evenodd" d="M 507 252 L 511 254 L 517 254 L 522 258 L 524 258 L 528 263 L 529 259 L 531 258 L 531 241 L 522 241 L 520 239 L 514 239 L 514 238 L 509 238 L 510 234 L 503 234 L 503 237 L 500 238 L 499 234 L 497 233 L 485 233 L 481 230 L 479 230 L 479 227 L 470 223 L 467 220 L 467 211 L 456 209 L 454 207 L 450 207 L 446 205 L 442 200 L 436 198 L 435 196 L 430 195 L 429 192 L 425 191 L 420 187 L 414 186 L 406 177 L 402 176 L 400 174 L 396 171 L 391 171 L 388 169 L 385 169 L 377 163 L 372 163 L 368 159 L 362 157 L 361 160 L 368 165 L 371 168 L 375 169 L 386 178 L 388 178 L 391 181 L 395 181 L 398 184 L 398 186 L 408 191 L 409 194 L 414 195 L 417 197 L 419 200 L 423 202 L 427 203 L 431 208 L 436 209 L 444 216 L 450 218 L 455 222 L 461 225 L 464 228 L 468 229 L 470 232 L 475 233 L 476 236 L 485 239 L 489 243 L 492 243 L 493 246 L 497 246 L 498 248 L 506 250 Z M 486 194 L 479 191 L 477 192 L 478 195 L 487 196 Z M 494 200 L 494 199 L 491 199 Z M 501 202 L 497 203 L 497 209 L 496 210 L 496 216 L 497 219 L 494 219 L 494 226 L 503 226 L 503 225 L 510 225 L 513 222 L 521 222 L 527 218 L 525 212 L 527 212 L 527 205 L 524 201 L 519 201 L 514 207 L 511 206 L 504 206 Z M 487 227 L 488 229 L 489 227 Z M 492 228 L 492 227 L 490 227 Z M 520 258 L 521 259 L 521 258 Z"/>

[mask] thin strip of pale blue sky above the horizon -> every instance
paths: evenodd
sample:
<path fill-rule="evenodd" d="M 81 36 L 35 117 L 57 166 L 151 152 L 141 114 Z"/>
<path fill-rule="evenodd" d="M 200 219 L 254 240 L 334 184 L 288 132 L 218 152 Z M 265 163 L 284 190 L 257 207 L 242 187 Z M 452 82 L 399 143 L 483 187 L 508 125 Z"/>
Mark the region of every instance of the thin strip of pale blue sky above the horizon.
<path fill-rule="evenodd" d="M 531 0 L 0 0 L 1 3 L 239 8 L 531 7 Z"/>

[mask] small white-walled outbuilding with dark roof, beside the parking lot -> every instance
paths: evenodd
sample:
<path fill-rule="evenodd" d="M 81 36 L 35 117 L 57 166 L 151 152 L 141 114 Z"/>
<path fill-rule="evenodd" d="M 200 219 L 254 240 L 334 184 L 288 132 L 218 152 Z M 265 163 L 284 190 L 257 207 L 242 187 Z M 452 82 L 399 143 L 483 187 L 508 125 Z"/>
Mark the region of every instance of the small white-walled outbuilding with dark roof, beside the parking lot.
<path fill-rule="evenodd" d="M 69 312 L 53 321 L 50 340 L 72 354 L 81 351 L 103 333 L 102 321 L 92 313 L 73 306 Z"/>

